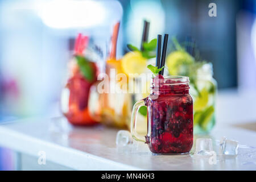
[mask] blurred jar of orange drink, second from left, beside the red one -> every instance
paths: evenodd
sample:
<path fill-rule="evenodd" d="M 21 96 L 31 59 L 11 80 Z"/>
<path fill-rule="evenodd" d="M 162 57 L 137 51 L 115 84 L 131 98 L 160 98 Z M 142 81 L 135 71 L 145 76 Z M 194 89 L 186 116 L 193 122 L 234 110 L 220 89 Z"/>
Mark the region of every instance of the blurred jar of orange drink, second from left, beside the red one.
<path fill-rule="evenodd" d="M 97 122 L 126 129 L 127 120 L 131 115 L 131 96 L 127 93 L 126 81 L 115 80 L 116 74 L 119 73 L 117 65 L 120 61 L 115 62 L 107 62 L 106 74 L 90 89 L 89 112 Z"/>

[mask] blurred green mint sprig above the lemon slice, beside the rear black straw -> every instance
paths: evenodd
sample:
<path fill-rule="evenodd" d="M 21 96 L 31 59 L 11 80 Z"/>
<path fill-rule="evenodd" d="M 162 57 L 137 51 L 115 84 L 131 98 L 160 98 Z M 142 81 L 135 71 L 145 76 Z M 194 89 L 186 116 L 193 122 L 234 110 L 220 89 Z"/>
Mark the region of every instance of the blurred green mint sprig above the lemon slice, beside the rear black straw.
<path fill-rule="evenodd" d="M 138 47 L 133 46 L 131 44 L 127 44 L 127 47 L 130 51 L 140 51 L 142 56 L 146 59 L 151 59 L 155 57 L 155 49 L 156 49 L 156 39 L 152 39 L 150 42 L 143 43 L 143 50 L 140 50 Z"/>

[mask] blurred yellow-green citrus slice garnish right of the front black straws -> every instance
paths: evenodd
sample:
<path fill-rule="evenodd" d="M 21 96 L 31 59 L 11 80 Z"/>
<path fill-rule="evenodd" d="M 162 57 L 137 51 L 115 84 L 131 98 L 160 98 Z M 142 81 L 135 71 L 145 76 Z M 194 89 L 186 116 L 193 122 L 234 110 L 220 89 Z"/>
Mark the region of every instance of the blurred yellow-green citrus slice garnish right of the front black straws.
<path fill-rule="evenodd" d="M 187 75 L 189 65 L 194 58 L 185 51 L 174 51 L 167 56 L 167 67 L 170 75 Z"/>

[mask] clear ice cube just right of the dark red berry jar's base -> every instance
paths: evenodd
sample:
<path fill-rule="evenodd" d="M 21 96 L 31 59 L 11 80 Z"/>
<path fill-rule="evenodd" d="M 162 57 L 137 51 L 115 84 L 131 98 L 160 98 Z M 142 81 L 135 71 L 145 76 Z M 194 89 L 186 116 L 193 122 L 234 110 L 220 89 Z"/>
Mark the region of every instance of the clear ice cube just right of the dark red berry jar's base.
<path fill-rule="evenodd" d="M 196 155 L 212 155 L 212 139 L 198 138 L 196 139 Z"/>

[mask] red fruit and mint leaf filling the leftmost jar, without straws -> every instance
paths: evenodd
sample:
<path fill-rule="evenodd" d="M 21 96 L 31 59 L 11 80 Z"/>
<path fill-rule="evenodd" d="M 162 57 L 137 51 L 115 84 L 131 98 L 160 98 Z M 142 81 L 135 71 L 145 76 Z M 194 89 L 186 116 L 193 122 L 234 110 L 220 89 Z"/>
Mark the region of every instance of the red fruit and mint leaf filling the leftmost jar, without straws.
<path fill-rule="evenodd" d="M 82 56 L 75 56 L 74 60 L 76 62 L 72 63 L 72 74 L 65 87 L 69 90 L 68 107 L 63 113 L 72 124 L 93 125 L 97 122 L 90 117 L 88 98 L 90 86 L 97 79 L 97 66 Z"/>

